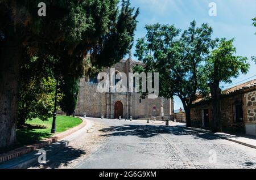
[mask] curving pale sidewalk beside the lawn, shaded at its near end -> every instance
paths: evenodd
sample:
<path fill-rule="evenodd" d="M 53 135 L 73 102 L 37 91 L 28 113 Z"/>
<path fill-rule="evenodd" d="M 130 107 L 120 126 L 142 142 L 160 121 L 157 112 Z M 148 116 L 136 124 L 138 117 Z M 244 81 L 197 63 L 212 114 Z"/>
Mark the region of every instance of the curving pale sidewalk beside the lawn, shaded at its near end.
<path fill-rule="evenodd" d="M 78 117 L 80 118 L 80 117 Z M 58 142 L 44 145 L 32 150 L 32 152 L 25 153 L 20 155 L 20 157 L 15 157 L 12 160 L 6 161 L 0 164 L 0 169 L 26 169 L 30 166 L 38 163 L 38 158 L 42 153 L 38 153 L 39 150 L 44 150 L 46 152 L 46 157 L 49 158 L 52 155 L 55 155 L 57 152 L 61 151 L 68 146 L 68 143 L 71 140 L 75 139 L 77 135 L 80 135 L 84 130 L 88 130 L 92 127 L 92 123 L 88 119 L 80 118 L 82 123 L 79 126 L 73 127 L 71 130 L 63 132 L 63 134 L 58 134 L 54 136 Z M 80 132 L 81 131 L 81 132 Z"/>

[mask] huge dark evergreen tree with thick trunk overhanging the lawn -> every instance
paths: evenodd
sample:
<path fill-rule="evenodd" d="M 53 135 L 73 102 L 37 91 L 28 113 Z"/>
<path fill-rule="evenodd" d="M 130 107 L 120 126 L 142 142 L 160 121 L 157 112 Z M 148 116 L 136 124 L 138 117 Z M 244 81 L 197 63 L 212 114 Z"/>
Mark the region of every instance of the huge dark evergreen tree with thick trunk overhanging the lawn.
<path fill-rule="evenodd" d="M 117 0 L 46 0 L 46 16 L 38 15 L 38 0 L 0 1 L 0 148 L 16 141 L 18 79 L 23 55 L 41 62 L 57 59 L 53 74 L 81 76 L 82 60 L 111 65 L 129 52 L 138 10 Z M 47 65 L 47 62 L 46 62 Z"/>

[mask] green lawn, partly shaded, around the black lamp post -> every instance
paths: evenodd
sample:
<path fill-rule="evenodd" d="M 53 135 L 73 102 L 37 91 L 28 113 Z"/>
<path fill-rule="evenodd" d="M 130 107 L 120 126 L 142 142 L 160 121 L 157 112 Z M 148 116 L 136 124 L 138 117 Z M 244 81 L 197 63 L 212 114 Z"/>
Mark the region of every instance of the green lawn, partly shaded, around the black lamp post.
<path fill-rule="evenodd" d="M 32 144 L 38 140 L 51 137 L 53 135 L 51 134 L 52 118 L 48 118 L 48 120 L 41 121 L 35 118 L 32 121 L 26 122 L 31 127 L 17 129 L 16 136 L 20 145 Z M 69 128 L 79 125 L 81 122 L 79 118 L 57 115 L 56 133 L 67 131 Z"/>

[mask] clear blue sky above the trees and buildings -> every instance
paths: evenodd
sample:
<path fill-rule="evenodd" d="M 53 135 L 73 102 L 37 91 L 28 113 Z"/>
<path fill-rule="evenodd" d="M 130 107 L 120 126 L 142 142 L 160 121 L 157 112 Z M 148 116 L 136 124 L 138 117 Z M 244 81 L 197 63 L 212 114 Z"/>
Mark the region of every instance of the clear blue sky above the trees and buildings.
<path fill-rule="evenodd" d="M 217 16 L 209 16 L 210 2 L 216 3 Z M 250 60 L 256 55 L 256 28 L 251 25 L 251 19 L 256 17 L 256 0 L 131 0 L 131 5 L 139 7 L 141 12 L 135 40 L 146 35 L 145 24 L 175 24 L 175 27 L 184 30 L 195 19 L 197 25 L 208 23 L 213 28 L 213 37 L 235 38 L 237 55 L 249 58 L 250 71 L 233 79 L 232 84 L 256 75 L 256 65 Z M 232 87 L 232 84 L 221 85 Z M 180 107 L 183 105 L 175 97 L 175 109 Z"/>

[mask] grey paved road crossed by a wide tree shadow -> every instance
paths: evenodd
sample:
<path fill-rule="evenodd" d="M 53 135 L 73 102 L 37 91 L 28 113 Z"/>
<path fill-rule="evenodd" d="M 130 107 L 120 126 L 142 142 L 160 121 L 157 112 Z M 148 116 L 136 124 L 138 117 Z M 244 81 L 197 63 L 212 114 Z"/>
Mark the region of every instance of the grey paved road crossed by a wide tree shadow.
<path fill-rule="evenodd" d="M 88 119 L 104 124 L 105 141 L 73 168 L 256 168 L 256 149 L 216 136 L 145 121 Z"/>

